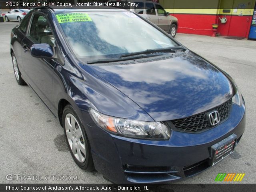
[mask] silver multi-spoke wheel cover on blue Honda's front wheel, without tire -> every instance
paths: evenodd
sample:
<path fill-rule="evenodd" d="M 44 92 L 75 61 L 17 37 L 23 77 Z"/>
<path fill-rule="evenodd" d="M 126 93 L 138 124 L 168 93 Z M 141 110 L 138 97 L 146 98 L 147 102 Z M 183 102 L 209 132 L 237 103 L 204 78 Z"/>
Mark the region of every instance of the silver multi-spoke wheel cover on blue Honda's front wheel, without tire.
<path fill-rule="evenodd" d="M 78 121 L 70 113 L 68 113 L 65 117 L 65 131 L 72 153 L 79 162 L 84 162 L 86 158 L 84 136 Z"/>

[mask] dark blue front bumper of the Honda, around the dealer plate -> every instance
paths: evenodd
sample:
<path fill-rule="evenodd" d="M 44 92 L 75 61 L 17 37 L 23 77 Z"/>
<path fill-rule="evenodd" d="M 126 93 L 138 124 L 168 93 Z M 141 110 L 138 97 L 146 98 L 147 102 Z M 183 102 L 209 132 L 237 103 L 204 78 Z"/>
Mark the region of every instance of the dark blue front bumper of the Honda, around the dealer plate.
<path fill-rule="evenodd" d="M 90 124 L 86 131 L 95 168 L 110 181 L 165 183 L 188 178 L 210 168 L 211 146 L 233 133 L 238 144 L 245 122 L 243 103 L 241 107 L 232 104 L 228 120 L 215 128 L 200 134 L 172 131 L 168 141 L 115 136 L 95 124 Z"/>

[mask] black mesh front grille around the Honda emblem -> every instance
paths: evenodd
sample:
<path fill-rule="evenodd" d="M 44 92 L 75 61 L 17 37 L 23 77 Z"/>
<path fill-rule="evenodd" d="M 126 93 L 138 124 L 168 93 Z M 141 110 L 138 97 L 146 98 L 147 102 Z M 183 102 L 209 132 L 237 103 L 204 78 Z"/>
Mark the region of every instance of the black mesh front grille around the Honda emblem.
<path fill-rule="evenodd" d="M 174 126 L 174 128 L 176 128 L 177 130 L 184 131 L 184 132 L 204 131 L 212 128 L 212 126 L 208 122 L 208 118 L 207 118 L 208 112 L 212 110 L 217 110 L 220 115 L 220 123 L 221 123 L 228 118 L 230 114 L 231 106 L 232 106 L 232 99 L 206 112 L 202 112 L 202 113 L 199 113 L 190 117 L 182 118 L 182 119 L 171 120 L 167 123 L 170 124 L 171 122 L 171 125 L 170 125 L 171 127 Z"/>

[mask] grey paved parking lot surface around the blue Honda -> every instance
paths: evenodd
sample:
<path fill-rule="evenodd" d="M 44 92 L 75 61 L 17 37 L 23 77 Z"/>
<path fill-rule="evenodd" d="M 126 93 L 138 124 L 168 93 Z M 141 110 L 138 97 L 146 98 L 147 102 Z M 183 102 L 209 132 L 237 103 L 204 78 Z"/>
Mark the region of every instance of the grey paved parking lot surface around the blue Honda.
<path fill-rule="evenodd" d="M 18 22 L 0 23 L 0 182 L 109 183 L 73 161 L 58 120 L 28 86 L 16 83 L 10 56 L 10 31 Z M 214 183 L 218 173 L 245 173 L 240 183 L 255 183 L 256 41 L 177 34 L 184 46 L 230 74 L 246 101 L 246 130 L 235 152 L 216 166 L 179 183 Z M 77 180 L 6 180 L 24 176 L 77 176 Z M 68 177 L 69 178 L 69 177 Z"/>

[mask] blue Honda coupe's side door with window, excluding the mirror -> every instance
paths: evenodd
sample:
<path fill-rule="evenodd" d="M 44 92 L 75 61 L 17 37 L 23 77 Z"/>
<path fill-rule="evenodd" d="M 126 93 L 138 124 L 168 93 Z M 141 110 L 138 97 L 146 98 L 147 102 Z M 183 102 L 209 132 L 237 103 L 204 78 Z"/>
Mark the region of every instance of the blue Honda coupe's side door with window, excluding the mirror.
<path fill-rule="evenodd" d="M 56 64 L 55 58 L 35 58 L 31 56 L 33 44 L 46 43 L 56 50 L 56 42 L 47 16 L 34 13 L 26 37 L 22 40 L 22 62 L 29 80 L 28 83 L 52 110 L 52 74 Z M 54 54 L 55 55 L 55 54 Z"/>

